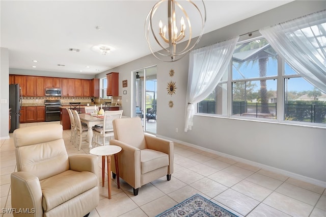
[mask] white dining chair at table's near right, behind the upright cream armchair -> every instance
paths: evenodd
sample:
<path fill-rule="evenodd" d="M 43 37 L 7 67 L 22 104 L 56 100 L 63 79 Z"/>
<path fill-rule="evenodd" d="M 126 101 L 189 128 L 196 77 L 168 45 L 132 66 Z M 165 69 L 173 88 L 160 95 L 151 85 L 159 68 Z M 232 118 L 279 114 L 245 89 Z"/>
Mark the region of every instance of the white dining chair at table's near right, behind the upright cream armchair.
<path fill-rule="evenodd" d="M 104 120 L 102 125 L 95 125 L 93 133 L 97 136 L 96 143 L 99 145 L 99 138 L 103 139 L 102 145 L 105 145 L 105 138 L 113 137 L 113 120 L 121 118 L 123 110 L 118 111 L 105 111 Z M 110 142 L 108 143 L 110 145 Z"/>

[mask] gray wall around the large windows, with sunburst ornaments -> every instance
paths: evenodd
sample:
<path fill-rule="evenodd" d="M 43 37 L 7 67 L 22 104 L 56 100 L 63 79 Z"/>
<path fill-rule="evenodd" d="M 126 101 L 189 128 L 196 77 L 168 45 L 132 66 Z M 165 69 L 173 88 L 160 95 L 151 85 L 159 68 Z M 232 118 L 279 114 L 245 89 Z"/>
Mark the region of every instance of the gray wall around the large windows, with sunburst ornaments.
<path fill-rule="evenodd" d="M 242 20 L 205 34 L 198 47 L 259 30 L 265 26 L 300 17 L 326 8 L 324 1 L 294 1 L 279 8 Z M 120 72 L 119 80 L 124 115 L 131 114 L 131 71 L 157 65 L 157 135 L 203 150 L 231 155 L 238 160 L 283 173 L 301 180 L 326 186 L 326 129 L 290 124 L 238 120 L 196 115 L 191 131 L 183 132 L 188 79 L 188 57 L 165 63 L 152 55 L 97 74 L 105 77 L 111 71 Z M 174 77 L 169 76 L 174 69 Z M 167 94 L 167 84 L 176 82 L 176 94 Z M 127 95 L 122 91 L 127 90 Z M 172 100 L 174 107 L 168 103 Z M 175 132 L 175 128 L 179 132 Z"/>

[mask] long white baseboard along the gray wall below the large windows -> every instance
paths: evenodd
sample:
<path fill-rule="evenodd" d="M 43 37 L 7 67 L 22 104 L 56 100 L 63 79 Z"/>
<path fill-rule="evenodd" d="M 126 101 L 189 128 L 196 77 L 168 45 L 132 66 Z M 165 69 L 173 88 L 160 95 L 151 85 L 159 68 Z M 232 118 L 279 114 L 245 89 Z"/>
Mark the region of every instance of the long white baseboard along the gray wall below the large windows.
<path fill-rule="evenodd" d="M 171 138 L 168 138 L 168 137 L 164 137 L 162 135 L 156 135 L 156 136 L 160 137 L 160 138 L 163 138 L 163 139 L 167 139 L 167 140 L 171 140 L 171 141 L 180 143 L 180 144 L 188 146 L 188 147 L 197 148 L 199 150 L 210 152 L 210 153 L 220 155 L 220 156 L 223 156 L 223 157 L 232 158 L 232 159 L 234 159 L 236 161 L 239 161 L 239 162 L 242 162 L 244 164 L 248 164 L 248 165 L 251 165 L 251 166 L 254 166 L 254 167 L 258 167 L 258 168 L 268 170 L 268 171 L 271 171 L 271 172 L 274 172 L 274 173 L 279 173 L 281 175 L 288 176 L 288 177 L 291 177 L 291 178 L 294 178 L 294 179 L 297 179 L 297 180 L 305 181 L 305 182 L 308 182 L 310 184 L 318 185 L 318 186 L 321 186 L 321 187 L 326 187 L 326 181 L 321 181 L 321 180 L 318 180 L 318 179 L 313 179 L 313 178 L 310 178 L 310 177 L 307 177 L 307 176 L 292 173 L 292 172 L 282 170 L 282 169 L 279 169 L 279 168 L 270 167 L 268 165 L 260 164 L 260 163 L 255 162 L 255 161 L 251 161 L 251 160 L 236 157 L 236 156 L 233 156 L 233 155 L 225 154 L 225 153 L 222 153 L 222 152 L 219 152 L 219 151 L 214 151 L 214 150 L 204 148 L 204 147 L 201 147 L 201 146 L 197 146 L 197 145 L 194 145 L 194 144 L 191 144 L 191 143 L 171 139 Z"/>

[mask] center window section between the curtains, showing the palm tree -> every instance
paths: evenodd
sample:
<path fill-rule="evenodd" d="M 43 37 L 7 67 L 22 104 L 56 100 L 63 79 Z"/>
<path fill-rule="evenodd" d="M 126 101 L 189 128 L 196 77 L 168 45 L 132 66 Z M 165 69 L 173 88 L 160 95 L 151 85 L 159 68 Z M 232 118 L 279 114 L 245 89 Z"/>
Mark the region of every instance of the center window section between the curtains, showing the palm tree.
<path fill-rule="evenodd" d="M 232 58 L 232 115 L 275 119 L 277 54 L 266 39 L 239 44 Z"/>

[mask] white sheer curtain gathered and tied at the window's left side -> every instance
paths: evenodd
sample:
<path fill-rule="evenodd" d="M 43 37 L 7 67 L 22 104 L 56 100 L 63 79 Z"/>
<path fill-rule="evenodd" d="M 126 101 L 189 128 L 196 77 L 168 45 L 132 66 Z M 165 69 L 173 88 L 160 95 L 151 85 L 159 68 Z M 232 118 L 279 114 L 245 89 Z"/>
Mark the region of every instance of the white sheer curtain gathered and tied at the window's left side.
<path fill-rule="evenodd" d="M 239 37 L 198 48 L 189 54 L 189 74 L 184 131 L 192 129 L 194 104 L 204 100 L 226 71 Z"/>

